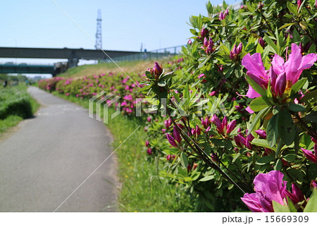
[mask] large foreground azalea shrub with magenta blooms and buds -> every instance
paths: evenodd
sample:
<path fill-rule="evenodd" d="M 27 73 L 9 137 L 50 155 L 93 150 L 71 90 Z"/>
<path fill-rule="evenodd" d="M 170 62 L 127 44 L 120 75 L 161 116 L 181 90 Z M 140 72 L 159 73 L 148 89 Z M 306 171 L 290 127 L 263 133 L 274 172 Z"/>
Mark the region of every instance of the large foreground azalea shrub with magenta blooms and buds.
<path fill-rule="evenodd" d="M 146 71 L 166 118 L 144 152 L 198 211 L 316 212 L 316 2 L 244 4 L 206 4 L 182 58 Z"/>

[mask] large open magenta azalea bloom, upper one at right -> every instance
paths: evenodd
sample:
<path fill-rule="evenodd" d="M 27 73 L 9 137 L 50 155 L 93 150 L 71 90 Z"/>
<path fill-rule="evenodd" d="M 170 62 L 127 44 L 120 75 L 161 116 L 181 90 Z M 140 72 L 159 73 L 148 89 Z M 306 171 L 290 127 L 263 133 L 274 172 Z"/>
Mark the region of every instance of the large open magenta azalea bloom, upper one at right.
<path fill-rule="evenodd" d="M 272 90 L 276 95 L 282 96 L 285 88 L 290 88 L 297 82 L 302 71 L 306 68 L 311 68 L 317 60 L 317 54 L 311 53 L 302 56 L 301 49 L 297 44 L 292 44 L 292 53 L 289 59 L 284 62 L 281 56 L 275 54 L 272 60 L 272 66 L 268 74 L 265 70 L 261 54 L 247 54 L 242 59 L 242 65 L 247 68 L 247 75 L 254 80 L 263 90 L 268 87 L 268 80 L 271 80 Z M 251 85 L 247 92 L 247 97 L 255 98 L 261 95 L 256 92 Z"/>

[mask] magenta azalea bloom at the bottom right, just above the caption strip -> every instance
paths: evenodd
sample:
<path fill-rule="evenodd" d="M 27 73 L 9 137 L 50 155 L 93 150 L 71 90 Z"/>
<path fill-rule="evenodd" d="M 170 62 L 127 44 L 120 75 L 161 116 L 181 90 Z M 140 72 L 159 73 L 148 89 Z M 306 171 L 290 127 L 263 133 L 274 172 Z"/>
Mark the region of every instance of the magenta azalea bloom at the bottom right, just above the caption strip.
<path fill-rule="evenodd" d="M 259 174 L 253 181 L 256 193 L 246 193 L 241 200 L 252 212 L 274 212 L 273 200 L 284 205 L 287 181 L 282 180 L 283 176 L 280 171 Z"/>

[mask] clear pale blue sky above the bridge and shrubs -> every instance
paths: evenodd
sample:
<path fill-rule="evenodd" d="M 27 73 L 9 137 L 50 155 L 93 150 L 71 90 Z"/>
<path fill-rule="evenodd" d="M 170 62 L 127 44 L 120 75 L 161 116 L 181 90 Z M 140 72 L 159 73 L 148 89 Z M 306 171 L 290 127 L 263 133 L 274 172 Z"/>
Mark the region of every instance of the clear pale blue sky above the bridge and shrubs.
<path fill-rule="evenodd" d="M 206 15 L 206 0 L 54 1 L 92 39 L 95 39 L 100 8 L 103 49 L 112 50 L 139 51 L 141 43 L 148 51 L 186 44 L 191 37 L 186 23 L 189 16 Z M 0 1 L 0 33 L 0 47 L 94 49 L 94 42 L 52 0 Z M 0 59 L 4 61 L 8 59 Z M 29 62 L 30 59 L 11 61 Z"/>

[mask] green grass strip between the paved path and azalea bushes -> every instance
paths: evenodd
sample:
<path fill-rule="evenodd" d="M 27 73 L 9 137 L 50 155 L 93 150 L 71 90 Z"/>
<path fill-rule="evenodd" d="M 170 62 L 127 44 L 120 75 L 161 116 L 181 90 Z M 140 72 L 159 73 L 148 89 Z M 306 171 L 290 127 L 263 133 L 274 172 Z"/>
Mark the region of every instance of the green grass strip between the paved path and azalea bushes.
<path fill-rule="evenodd" d="M 67 97 L 57 92 L 53 94 L 88 108 L 88 99 Z M 113 112 L 114 109 L 109 109 L 109 114 Z M 144 149 L 144 118 L 120 114 L 109 121 L 107 127 L 114 137 L 113 149 L 116 150 L 122 144 L 116 150 L 118 177 L 122 184 L 118 196 L 121 212 L 191 212 L 193 210 L 185 190 L 169 183 L 166 178 L 160 178 L 161 165 L 158 162 L 148 161 Z M 126 138 L 128 140 L 125 141 Z"/>

